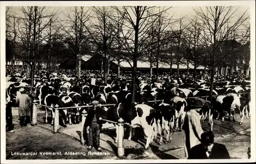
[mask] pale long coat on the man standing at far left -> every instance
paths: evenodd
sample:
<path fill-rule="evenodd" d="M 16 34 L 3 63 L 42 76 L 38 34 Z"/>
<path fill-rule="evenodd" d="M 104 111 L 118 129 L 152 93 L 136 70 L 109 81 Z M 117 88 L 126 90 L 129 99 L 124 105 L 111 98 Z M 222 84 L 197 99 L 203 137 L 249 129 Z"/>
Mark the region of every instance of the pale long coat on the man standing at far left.
<path fill-rule="evenodd" d="M 18 103 L 18 114 L 20 117 L 30 116 L 30 107 L 32 105 L 32 101 L 27 94 L 17 95 L 16 103 Z"/>

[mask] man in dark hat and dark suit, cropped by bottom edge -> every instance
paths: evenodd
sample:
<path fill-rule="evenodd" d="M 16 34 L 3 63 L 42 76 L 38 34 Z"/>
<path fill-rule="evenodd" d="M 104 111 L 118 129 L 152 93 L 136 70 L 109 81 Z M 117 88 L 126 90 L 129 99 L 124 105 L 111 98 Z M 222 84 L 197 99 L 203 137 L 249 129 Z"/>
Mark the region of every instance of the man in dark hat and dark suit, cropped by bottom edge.
<path fill-rule="evenodd" d="M 214 143 L 214 134 L 208 131 L 201 134 L 201 144 L 191 148 L 188 159 L 230 159 L 230 156 L 226 146 Z"/>

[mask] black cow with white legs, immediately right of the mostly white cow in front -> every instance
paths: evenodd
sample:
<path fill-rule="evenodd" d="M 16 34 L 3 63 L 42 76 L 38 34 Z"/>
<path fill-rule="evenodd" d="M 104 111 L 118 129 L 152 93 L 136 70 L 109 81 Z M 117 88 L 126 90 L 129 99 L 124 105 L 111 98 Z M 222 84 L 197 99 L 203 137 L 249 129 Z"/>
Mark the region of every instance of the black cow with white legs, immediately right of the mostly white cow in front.
<path fill-rule="evenodd" d="M 175 121 L 175 109 L 167 103 L 161 103 L 157 107 L 156 122 L 160 134 L 159 145 L 163 142 L 163 132 L 166 131 L 166 143 L 173 140 Z"/>

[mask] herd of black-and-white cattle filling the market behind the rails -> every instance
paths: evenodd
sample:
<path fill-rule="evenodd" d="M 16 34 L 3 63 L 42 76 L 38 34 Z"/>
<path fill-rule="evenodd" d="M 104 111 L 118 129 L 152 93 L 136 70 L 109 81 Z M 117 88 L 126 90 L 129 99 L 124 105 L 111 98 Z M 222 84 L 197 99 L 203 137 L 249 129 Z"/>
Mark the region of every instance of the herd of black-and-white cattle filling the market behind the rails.
<path fill-rule="evenodd" d="M 19 94 L 20 88 L 29 89 L 31 79 L 20 77 L 7 77 L 6 98 L 7 101 Z M 53 73 L 49 77 L 34 76 L 33 86 L 36 99 L 40 104 L 54 107 L 76 106 L 59 110 L 62 125 L 77 124 L 81 121 L 81 113 L 93 100 L 100 104 L 115 104 L 102 107 L 105 111 L 104 119 L 117 122 L 120 118 L 130 127 L 129 140 L 134 134 L 135 127 L 142 127 L 146 136 L 145 148 L 157 137 L 157 129 L 160 134 L 160 143 L 163 141 L 163 133 L 166 131 L 166 142 L 172 141 L 173 132 L 182 130 L 185 114 L 193 106 L 200 106 L 201 123 L 208 121 L 210 129 L 213 127 L 213 119 L 224 121 L 224 111 L 228 113 L 228 119 L 234 111 L 239 110 L 243 123 L 244 115 L 249 117 L 250 106 L 250 81 L 230 78 L 228 81 L 216 80 L 211 102 L 209 96 L 209 81 L 198 79 L 191 81 L 189 77 L 160 79 L 160 83 L 136 79 L 135 104 L 132 100 L 132 85 L 130 79 L 108 79 L 107 83 L 102 78 L 90 77 L 82 81 L 76 81 L 67 75 L 57 76 Z M 65 90 L 65 92 L 63 92 Z M 173 92 L 175 90 L 175 93 Z M 200 98 L 201 97 L 201 98 Z M 162 100 L 155 101 L 154 100 Z M 153 101 L 153 102 L 151 102 Z M 54 108 L 46 107 L 46 123 L 48 112 L 54 118 Z M 234 119 L 234 117 L 233 117 Z M 54 119 L 52 119 L 52 124 Z M 116 125 L 117 127 L 117 125 Z M 118 128 L 116 128 L 118 130 Z M 118 134 L 118 132 L 117 132 Z M 116 141 L 117 142 L 117 138 Z"/>

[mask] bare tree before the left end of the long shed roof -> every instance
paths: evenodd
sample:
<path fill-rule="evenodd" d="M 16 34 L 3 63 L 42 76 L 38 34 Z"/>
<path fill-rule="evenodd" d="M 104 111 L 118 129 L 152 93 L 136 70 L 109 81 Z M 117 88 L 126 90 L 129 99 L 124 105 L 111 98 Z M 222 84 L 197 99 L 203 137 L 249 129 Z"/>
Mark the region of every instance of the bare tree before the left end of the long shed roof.
<path fill-rule="evenodd" d="M 73 7 L 67 15 L 67 21 L 61 23 L 61 29 L 67 35 L 67 41 L 74 44 L 70 48 L 76 57 L 76 75 L 81 78 L 81 46 L 86 44 L 88 39 L 87 22 L 91 17 L 91 10 L 86 7 Z"/>

